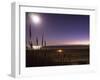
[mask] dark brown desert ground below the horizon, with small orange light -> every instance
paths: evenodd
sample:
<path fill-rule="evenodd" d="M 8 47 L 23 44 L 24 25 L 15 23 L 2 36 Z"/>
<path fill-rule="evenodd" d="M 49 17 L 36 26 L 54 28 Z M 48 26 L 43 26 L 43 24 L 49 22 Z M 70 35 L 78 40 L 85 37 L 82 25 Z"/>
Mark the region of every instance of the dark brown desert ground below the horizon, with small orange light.
<path fill-rule="evenodd" d="M 82 64 L 89 64 L 89 46 L 49 46 L 41 50 L 26 50 L 26 67 Z"/>

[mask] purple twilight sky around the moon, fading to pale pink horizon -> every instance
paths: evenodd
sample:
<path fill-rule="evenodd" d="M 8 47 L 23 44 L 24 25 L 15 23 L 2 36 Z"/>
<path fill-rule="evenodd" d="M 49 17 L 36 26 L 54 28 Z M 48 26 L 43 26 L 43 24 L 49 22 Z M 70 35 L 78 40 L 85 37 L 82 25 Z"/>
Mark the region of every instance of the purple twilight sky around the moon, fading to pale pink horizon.
<path fill-rule="evenodd" d="M 32 22 L 31 14 L 38 15 L 41 22 L 39 24 Z M 41 43 L 44 32 L 47 45 L 89 44 L 89 15 L 27 12 L 26 41 L 29 40 L 30 25 L 33 42 L 37 36 L 39 43 Z"/>

